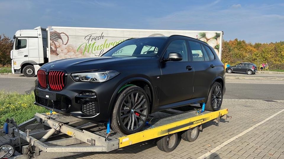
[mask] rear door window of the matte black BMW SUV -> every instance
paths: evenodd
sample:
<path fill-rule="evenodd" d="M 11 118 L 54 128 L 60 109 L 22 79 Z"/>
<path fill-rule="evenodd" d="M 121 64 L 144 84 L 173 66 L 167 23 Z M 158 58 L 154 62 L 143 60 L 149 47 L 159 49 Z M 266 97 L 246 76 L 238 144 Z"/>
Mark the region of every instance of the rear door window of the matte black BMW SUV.
<path fill-rule="evenodd" d="M 204 53 L 202 52 L 201 45 L 199 42 L 188 41 L 193 61 L 205 61 Z M 208 60 L 209 61 L 209 60 Z"/>

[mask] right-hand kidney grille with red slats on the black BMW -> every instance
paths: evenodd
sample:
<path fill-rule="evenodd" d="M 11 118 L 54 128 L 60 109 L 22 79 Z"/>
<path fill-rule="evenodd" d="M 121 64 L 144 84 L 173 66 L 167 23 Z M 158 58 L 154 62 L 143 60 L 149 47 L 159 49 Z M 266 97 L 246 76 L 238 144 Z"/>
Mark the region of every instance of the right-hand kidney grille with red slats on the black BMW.
<path fill-rule="evenodd" d="M 48 83 L 50 90 L 61 91 L 65 84 L 65 73 L 61 71 L 49 71 Z"/>

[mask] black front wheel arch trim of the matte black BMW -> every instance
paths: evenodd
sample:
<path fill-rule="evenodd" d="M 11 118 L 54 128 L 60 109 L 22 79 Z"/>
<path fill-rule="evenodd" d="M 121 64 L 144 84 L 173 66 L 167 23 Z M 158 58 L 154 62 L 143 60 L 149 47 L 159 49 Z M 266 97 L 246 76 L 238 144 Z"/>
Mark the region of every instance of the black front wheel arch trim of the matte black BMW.
<path fill-rule="evenodd" d="M 150 100 L 150 114 L 151 114 L 151 109 L 154 106 L 154 102 L 155 102 L 155 97 L 154 97 L 154 88 L 151 85 L 151 82 L 149 80 L 147 80 L 146 78 L 143 77 L 133 77 L 130 78 L 128 80 L 124 80 L 122 83 L 120 83 L 120 85 L 115 89 L 111 101 L 109 103 L 109 108 L 108 108 L 108 113 L 112 112 L 113 109 L 113 105 L 114 102 L 117 98 L 117 94 L 122 91 L 124 88 L 128 87 L 127 85 L 131 86 L 131 85 L 135 85 L 138 87 L 141 87 L 143 90 L 145 90 L 145 92 L 147 93 L 149 100 Z M 145 88 L 148 85 L 148 88 Z"/>

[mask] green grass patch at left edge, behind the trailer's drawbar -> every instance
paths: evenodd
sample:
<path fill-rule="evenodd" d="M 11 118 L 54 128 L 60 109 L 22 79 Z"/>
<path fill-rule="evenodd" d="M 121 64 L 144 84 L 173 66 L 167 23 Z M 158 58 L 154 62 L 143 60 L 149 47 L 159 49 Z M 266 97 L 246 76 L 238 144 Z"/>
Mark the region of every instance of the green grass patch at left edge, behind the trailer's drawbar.
<path fill-rule="evenodd" d="M 0 92 L 0 127 L 7 118 L 13 117 L 17 124 L 33 118 L 38 113 L 49 112 L 47 109 L 34 105 L 34 93 L 20 95 L 18 93 Z"/>

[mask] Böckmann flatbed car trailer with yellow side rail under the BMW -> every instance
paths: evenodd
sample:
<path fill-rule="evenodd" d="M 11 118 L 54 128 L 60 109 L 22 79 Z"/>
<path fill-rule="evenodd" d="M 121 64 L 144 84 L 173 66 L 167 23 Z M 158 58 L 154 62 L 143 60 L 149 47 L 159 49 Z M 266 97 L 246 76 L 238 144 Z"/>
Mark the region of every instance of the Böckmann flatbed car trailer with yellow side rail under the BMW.
<path fill-rule="evenodd" d="M 177 146 L 178 132 L 182 139 L 192 142 L 202 130 L 202 124 L 211 120 L 219 123 L 227 116 L 228 109 L 215 112 L 202 109 L 182 112 L 164 110 L 149 116 L 141 132 L 122 135 L 106 127 L 72 116 L 50 113 L 36 113 L 34 118 L 19 125 L 13 119 L 4 124 L 4 134 L 11 135 L 9 143 L 0 143 L 0 158 L 60 158 L 84 152 L 109 152 L 128 145 L 155 139 L 157 147 L 165 152 Z M 33 125 L 34 132 L 27 130 Z M 38 126 L 41 125 L 41 126 Z M 44 129 L 43 129 L 44 128 Z M 31 129 L 31 128 L 30 128 Z"/>

